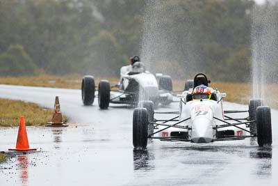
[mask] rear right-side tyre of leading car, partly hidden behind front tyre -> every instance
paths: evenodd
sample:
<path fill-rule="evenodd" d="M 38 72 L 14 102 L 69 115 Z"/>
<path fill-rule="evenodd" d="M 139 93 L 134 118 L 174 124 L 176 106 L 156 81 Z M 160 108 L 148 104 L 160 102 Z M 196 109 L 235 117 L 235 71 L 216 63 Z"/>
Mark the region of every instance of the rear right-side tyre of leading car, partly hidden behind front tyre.
<path fill-rule="evenodd" d="M 249 121 L 256 121 L 256 108 L 263 105 L 263 100 L 249 101 Z M 250 123 L 250 132 L 256 134 L 256 122 Z"/>

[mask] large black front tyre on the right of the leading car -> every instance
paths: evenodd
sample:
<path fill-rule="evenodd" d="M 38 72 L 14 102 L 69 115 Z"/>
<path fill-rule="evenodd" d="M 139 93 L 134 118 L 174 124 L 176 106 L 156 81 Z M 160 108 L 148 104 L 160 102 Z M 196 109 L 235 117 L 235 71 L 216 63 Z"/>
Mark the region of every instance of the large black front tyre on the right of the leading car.
<path fill-rule="evenodd" d="M 272 129 L 270 107 L 260 106 L 256 109 L 256 128 L 259 146 L 271 146 Z"/>

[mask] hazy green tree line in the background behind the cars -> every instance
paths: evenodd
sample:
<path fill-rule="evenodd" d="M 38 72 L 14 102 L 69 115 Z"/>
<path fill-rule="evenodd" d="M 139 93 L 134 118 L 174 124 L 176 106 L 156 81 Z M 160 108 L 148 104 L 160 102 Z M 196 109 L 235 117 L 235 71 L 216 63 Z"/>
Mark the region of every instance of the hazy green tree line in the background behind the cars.
<path fill-rule="evenodd" d="M 152 72 L 250 79 L 250 0 L 0 0 L 0 75 Z M 231 72 L 233 70 L 233 72 Z"/>

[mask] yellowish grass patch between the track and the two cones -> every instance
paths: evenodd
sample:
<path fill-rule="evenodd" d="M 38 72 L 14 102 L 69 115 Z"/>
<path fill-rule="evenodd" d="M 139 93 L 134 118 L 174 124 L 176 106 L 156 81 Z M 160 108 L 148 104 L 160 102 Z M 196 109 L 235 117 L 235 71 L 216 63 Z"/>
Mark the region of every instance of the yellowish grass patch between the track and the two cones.
<path fill-rule="evenodd" d="M 35 103 L 0 99 L 0 127 L 18 126 L 19 116 L 22 115 L 26 125 L 45 125 L 51 121 L 52 114 L 50 109 Z"/>

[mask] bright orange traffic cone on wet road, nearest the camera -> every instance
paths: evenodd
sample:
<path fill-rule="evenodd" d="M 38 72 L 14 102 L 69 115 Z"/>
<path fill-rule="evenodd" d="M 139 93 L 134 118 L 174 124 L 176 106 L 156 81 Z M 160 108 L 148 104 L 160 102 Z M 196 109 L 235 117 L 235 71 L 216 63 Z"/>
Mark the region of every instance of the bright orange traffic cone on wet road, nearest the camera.
<path fill-rule="evenodd" d="M 8 150 L 37 150 L 37 148 L 29 148 L 24 116 L 20 116 L 19 130 L 17 134 L 17 146 L 15 146 L 15 148 L 9 148 Z"/>

